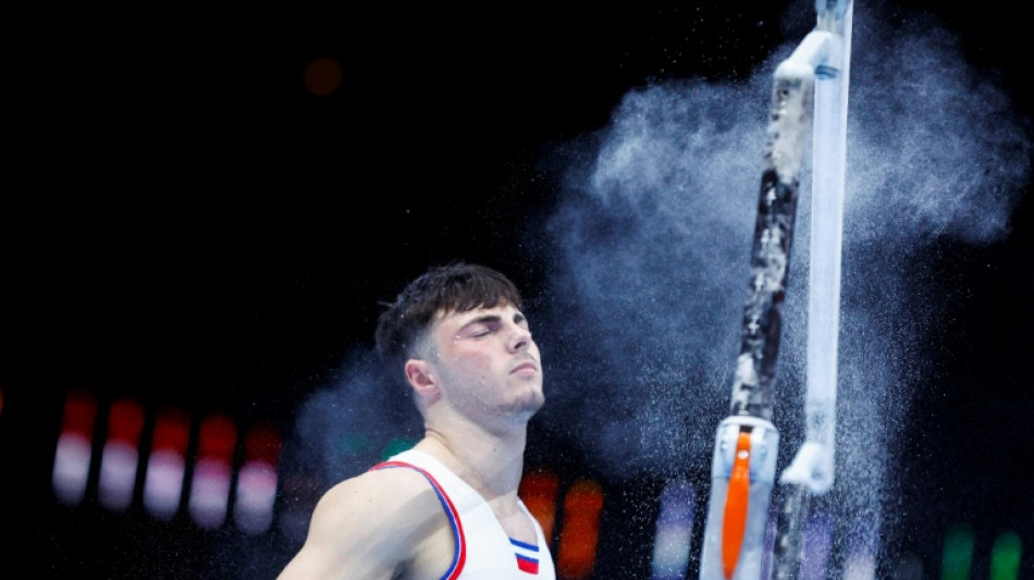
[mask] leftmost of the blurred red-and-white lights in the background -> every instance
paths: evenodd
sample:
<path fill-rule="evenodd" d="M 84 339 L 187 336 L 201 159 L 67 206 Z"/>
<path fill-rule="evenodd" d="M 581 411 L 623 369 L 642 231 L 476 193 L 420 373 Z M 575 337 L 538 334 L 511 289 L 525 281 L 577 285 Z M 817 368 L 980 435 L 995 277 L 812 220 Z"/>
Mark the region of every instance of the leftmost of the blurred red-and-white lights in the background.
<path fill-rule="evenodd" d="M 86 494 L 96 419 L 97 400 L 94 396 L 78 388 L 69 391 L 51 476 L 54 496 L 62 504 L 78 505 Z"/>

